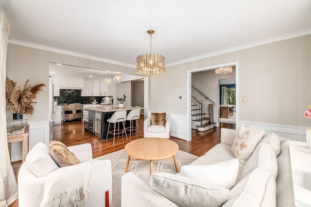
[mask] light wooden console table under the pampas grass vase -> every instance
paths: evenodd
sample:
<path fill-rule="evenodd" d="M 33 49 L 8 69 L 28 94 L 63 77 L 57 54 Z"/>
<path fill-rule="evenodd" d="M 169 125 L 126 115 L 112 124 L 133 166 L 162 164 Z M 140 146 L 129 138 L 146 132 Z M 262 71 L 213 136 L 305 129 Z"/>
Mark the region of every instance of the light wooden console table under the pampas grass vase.
<path fill-rule="evenodd" d="M 22 142 L 22 159 L 21 162 L 23 163 L 26 159 L 26 155 L 28 153 L 28 137 L 29 137 L 29 125 L 26 125 L 24 133 L 20 134 L 10 134 L 7 135 L 8 137 L 8 147 L 9 147 L 9 154 L 10 154 L 10 159 L 11 159 L 11 143 L 15 142 Z"/>

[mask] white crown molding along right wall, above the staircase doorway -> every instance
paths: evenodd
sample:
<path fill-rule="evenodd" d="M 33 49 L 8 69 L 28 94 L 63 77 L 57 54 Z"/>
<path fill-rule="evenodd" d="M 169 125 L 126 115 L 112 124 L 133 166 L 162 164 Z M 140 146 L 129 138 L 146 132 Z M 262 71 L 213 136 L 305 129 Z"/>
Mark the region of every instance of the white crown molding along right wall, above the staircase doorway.
<path fill-rule="evenodd" d="M 197 60 L 201 60 L 201 59 L 204 59 L 204 58 L 209 58 L 209 57 L 212 57 L 212 56 L 225 54 L 225 53 L 228 53 L 228 52 L 234 52 L 234 51 L 238 51 L 238 50 L 246 49 L 246 48 L 253 48 L 253 47 L 256 47 L 256 46 L 266 45 L 266 44 L 269 44 L 269 43 L 278 42 L 278 41 L 282 41 L 282 40 L 286 40 L 286 39 L 291 39 L 291 38 L 299 37 L 299 36 L 304 36 L 304 35 L 308 35 L 308 34 L 311 34 L 311 28 L 308 28 L 308 29 L 305 29 L 305 30 L 296 31 L 296 32 L 291 32 L 291 33 L 287 33 L 287 34 L 283 34 L 283 35 L 279 35 L 279 36 L 275 36 L 275 37 L 271 37 L 271 38 L 255 41 L 255 42 L 251 42 L 251 43 L 240 45 L 240 46 L 233 47 L 233 48 L 226 48 L 226 49 L 223 49 L 223 50 L 207 53 L 205 55 L 196 56 L 196 57 L 185 59 L 185 60 L 182 60 L 182 61 L 176 61 L 176 62 L 171 63 L 171 64 L 166 64 L 166 67 L 177 65 L 177 64 L 189 63 L 189 62 L 192 62 L 192 61 L 197 61 Z"/>

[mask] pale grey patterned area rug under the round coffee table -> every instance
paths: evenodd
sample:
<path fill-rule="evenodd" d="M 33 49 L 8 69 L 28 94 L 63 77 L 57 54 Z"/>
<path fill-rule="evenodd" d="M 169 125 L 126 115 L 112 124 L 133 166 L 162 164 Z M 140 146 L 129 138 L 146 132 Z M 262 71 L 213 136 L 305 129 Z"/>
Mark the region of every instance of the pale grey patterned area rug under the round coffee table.
<path fill-rule="evenodd" d="M 173 157 L 172 157 L 173 158 Z M 198 157 L 187 152 L 178 150 L 176 154 L 178 172 L 183 165 L 187 165 Z M 124 149 L 113 152 L 96 159 L 110 159 L 112 168 L 112 204 L 111 207 L 121 207 L 121 177 L 125 174 L 127 154 Z M 137 175 L 144 182 L 149 183 L 150 161 L 135 160 L 130 161 L 128 172 Z M 166 172 L 176 174 L 173 160 L 155 160 L 153 162 L 153 172 Z"/>

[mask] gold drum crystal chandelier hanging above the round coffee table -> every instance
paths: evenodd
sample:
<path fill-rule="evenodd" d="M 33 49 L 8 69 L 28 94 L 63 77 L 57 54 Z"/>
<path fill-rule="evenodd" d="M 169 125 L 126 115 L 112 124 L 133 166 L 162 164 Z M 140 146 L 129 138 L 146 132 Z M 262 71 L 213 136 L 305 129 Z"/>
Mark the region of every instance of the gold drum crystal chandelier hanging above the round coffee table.
<path fill-rule="evenodd" d="M 160 75 L 165 73 L 165 57 L 159 54 L 151 53 L 151 35 L 155 33 L 153 30 L 148 30 L 150 34 L 150 53 L 138 55 L 136 58 L 136 72 L 141 75 Z"/>

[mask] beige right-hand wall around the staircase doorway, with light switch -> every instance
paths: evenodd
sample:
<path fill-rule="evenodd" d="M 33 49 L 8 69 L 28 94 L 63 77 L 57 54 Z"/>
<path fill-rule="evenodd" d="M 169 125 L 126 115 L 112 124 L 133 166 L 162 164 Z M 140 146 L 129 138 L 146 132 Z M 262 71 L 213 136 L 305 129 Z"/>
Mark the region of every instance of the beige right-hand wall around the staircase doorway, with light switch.
<path fill-rule="evenodd" d="M 310 57 L 311 35 L 305 35 L 167 67 L 150 80 L 150 110 L 186 114 L 186 71 L 238 61 L 240 121 L 308 127 Z"/>

